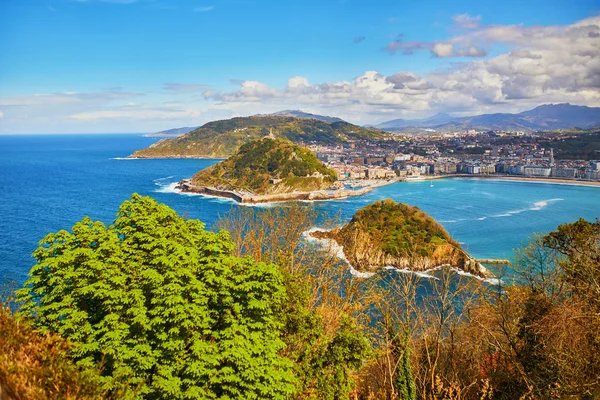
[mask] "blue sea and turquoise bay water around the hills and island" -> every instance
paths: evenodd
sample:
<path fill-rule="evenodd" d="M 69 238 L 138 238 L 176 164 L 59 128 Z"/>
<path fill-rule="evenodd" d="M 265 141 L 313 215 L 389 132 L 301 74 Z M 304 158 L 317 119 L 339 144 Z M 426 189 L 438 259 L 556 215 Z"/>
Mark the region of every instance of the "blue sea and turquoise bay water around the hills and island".
<path fill-rule="evenodd" d="M 247 207 L 176 191 L 178 181 L 219 160 L 126 158 L 157 140 L 137 134 L 0 136 L 0 280 L 22 284 L 46 234 L 70 230 L 84 216 L 110 224 L 132 193 L 151 196 L 208 229 L 232 207 Z M 600 217 L 600 187 L 500 179 L 399 182 L 312 205 L 348 221 L 386 198 L 427 212 L 481 259 L 510 259 L 534 233 Z"/>

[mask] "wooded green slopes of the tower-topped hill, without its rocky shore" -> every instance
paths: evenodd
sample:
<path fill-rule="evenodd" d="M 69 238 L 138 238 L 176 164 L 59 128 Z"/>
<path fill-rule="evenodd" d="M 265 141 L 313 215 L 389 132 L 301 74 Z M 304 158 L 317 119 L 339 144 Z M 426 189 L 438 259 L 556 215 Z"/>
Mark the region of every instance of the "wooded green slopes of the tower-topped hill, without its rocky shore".
<path fill-rule="evenodd" d="M 218 164 L 198 172 L 195 186 L 253 194 L 279 194 L 326 189 L 336 174 L 307 148 L 288 140 L 263 138 L 246 143 Z"/>

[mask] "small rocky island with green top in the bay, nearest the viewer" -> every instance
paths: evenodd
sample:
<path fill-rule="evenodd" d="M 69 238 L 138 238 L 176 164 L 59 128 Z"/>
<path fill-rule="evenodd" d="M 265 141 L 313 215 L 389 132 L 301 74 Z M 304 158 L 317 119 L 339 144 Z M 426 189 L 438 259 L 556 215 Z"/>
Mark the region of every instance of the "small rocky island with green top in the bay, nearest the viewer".
<path fill-rule="evenodd" d="M 387 266 L 427 271 L 449 265 L 482 278 L 492 276 L 432 217 L 391 199 L 358 210 L 341 228 L 311 235 L 342 246 L 344 256 L 357 271 L 372 272 Z"/>

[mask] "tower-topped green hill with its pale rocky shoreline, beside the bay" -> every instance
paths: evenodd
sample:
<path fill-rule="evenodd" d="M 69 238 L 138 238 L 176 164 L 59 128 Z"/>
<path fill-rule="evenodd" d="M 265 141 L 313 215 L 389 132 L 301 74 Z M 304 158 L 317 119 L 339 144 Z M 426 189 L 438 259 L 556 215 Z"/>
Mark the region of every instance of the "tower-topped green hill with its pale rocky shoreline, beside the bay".
<path fill-rule="evenodd" d="M 309 149 L 268 136 L 179 182 L 178 189 L 240 203 L 265 203 L 360 196 L 375 186 L 347 189 Z"/>

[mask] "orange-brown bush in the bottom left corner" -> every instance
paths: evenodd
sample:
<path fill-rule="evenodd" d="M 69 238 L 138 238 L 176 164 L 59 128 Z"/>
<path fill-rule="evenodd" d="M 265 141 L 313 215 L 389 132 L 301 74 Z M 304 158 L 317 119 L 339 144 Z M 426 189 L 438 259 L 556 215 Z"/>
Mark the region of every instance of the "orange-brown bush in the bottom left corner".
<path fill-rule="evenodd" d="M 0 399 L 104 399 L 94 369 L 73 365 L 71 346 L 56 334 L 36 332 L 29 321 L 0 305 Z"/>

